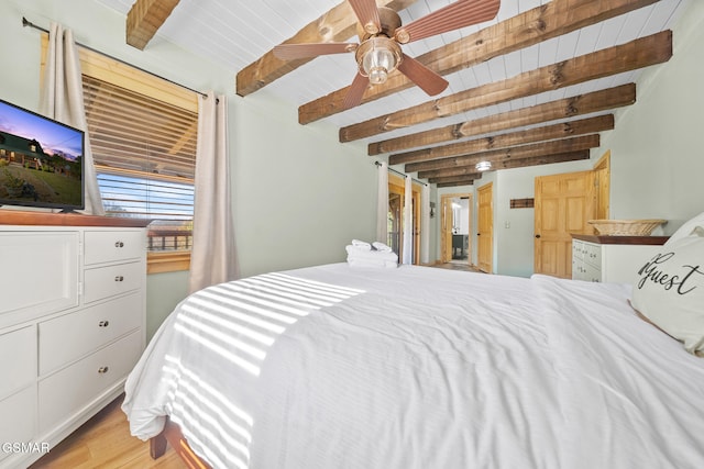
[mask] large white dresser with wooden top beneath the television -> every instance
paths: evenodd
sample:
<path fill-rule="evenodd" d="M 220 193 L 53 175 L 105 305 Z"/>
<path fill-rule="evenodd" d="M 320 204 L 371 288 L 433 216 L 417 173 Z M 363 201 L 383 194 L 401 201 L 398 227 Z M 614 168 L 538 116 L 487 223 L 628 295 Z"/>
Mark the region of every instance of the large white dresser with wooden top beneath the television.
<path fill-rule="evenodd" d="M 123 391 L 145 345 L 146 223 L 0 211 L 0 468 Z"/>

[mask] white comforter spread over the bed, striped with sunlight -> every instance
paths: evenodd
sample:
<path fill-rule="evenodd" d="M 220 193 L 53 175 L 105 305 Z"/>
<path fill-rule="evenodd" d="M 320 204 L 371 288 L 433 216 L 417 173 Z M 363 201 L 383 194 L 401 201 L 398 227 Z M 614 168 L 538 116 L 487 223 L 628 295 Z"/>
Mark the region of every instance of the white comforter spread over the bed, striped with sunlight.
<path fill-rule="evenodd" d="M 127 383 L 217 468 L 703 468 L 704 359 L 630 289 L 346 264 L 208 288 Z"/>

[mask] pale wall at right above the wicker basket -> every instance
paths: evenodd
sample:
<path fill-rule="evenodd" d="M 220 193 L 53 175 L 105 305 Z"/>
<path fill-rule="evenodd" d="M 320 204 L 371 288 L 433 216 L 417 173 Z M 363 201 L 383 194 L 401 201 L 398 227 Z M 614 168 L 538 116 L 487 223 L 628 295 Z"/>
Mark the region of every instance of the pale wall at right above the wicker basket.
<path fill-rule="evenodd" d="M 645 70 L 637 102 L 602 139 L 612 152 L 612 219 L 667 219 L 666 234 L 704 211 L 704 2 L 673 27 L 673 56 Z"/>

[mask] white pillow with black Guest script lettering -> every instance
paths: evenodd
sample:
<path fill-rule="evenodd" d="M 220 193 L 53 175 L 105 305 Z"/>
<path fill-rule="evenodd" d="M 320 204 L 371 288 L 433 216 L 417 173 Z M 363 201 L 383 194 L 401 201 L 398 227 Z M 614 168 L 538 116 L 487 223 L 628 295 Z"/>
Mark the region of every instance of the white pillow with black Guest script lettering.
<path fill-rule="evenodd" d="M 652 324 L 684 343 L 691 354 L 704 353 L 704 227 L 663 245 L 638 270 L 632 306 Z"/>

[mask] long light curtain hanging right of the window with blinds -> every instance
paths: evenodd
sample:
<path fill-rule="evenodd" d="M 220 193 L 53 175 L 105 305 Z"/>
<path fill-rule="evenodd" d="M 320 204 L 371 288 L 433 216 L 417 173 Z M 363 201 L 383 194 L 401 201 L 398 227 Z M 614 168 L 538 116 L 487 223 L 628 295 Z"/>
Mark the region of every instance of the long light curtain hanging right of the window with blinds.
<path fill-rule="evenodd" d="M 229 166 L 227 100 L 210 91 L 198 101 L 191 292 L 238 277 Z"/>

